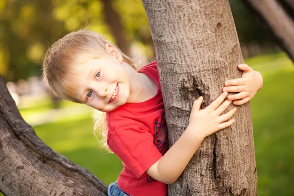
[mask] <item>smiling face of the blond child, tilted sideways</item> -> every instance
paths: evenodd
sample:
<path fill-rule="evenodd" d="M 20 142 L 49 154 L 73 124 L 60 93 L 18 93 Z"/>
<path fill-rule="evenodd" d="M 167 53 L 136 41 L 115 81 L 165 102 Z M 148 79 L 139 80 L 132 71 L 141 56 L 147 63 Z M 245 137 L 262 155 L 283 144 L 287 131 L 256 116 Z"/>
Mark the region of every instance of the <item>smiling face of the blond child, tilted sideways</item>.
<path fill-rule="evenodd" d="M 113 111 L 127 102 L 130 80 L 120 62 L 92 58 L 78 66 L 84 68 L 76 69 L 79 77 L 69 77 L 69 82 L 78 86 L 77 100 L 102 112 Z"/>

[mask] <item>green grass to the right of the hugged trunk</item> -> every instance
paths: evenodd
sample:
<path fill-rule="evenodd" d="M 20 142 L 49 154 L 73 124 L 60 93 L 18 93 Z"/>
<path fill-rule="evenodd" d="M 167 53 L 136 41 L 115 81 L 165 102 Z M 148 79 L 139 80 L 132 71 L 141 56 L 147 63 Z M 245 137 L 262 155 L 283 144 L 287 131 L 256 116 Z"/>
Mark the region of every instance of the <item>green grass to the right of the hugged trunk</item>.
<path fill-rule="evenodd" d="M 258 195 L 294 195 L 294 71 L 265 78 L 251 101 Z"/>

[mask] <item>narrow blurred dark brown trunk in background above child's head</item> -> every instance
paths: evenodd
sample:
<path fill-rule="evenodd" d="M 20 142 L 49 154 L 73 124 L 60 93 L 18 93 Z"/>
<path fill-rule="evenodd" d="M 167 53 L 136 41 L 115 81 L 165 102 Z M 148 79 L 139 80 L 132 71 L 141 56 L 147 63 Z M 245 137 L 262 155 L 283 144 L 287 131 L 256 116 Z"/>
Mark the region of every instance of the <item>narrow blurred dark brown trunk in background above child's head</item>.
<path fill-rule="evenodd" d="M 106 21 L 109 24 L 113 35 L 115 36 L 117 46 L 124 53 L 129 52 L 129 44 L 123 36 L 123 25 L 118 13 L 112 7 L 112 0 L 102 0 L 104 5 L 104 14 Z"/>

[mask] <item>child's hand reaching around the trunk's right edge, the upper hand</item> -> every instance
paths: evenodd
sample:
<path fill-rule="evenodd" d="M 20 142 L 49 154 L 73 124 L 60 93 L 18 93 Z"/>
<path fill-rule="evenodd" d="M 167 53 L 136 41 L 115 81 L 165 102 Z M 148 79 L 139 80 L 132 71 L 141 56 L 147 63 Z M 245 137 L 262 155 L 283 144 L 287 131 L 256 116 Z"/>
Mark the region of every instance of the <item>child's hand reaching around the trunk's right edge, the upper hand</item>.
<path fill-rule="evenodd" d="M 263 85 L 263 78 L 259 72 L 254 71 L 247 64 L 238 65 L 238 68 L 243 71 L 241 78 L 227 80 L 224 82 L 223 92 L 238 93 L 229 95 L 227 99 L 234 101 L 234 105 L 242 105 L 254 97 L 256 92 Z"/>

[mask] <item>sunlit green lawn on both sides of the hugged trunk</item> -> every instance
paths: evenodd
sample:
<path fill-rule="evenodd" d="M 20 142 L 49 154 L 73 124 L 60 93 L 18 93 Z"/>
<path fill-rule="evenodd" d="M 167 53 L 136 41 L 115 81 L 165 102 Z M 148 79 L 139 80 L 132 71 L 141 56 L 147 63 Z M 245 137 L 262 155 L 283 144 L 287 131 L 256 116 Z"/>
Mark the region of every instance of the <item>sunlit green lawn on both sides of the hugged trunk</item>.
<path fill-rule="evenodd" d="M 251 100 L 258 196 L 292 196 L 294 65 L 284 53 L 257 56 L 246 59 L 245 63 L 264 77 L 263 88 Z M 51 108 L 46 102 L 42 104 L 21 111 L 29 114 Z M 62 107 L 72 105 L 62 103 Z M 92 133 L 90 113 L 38 125 L 34 129 L 49 147 L 87 168 L 106 184 L 115 181 L 123 168 L 115 154 L 99 147 Z"/>

